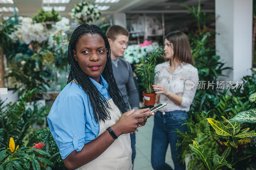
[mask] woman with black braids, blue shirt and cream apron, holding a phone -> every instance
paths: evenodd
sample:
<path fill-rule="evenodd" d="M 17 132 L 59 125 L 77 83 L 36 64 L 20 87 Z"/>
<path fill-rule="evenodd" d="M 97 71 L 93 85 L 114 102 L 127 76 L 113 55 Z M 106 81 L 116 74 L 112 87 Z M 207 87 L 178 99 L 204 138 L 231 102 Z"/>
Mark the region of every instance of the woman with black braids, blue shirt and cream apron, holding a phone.
<path fill-rule="evenodd" d="M 70 73 L 47 116 L 68 169 L 132 169 L 130 132 L 144 126 L 149 108 L 126 112 L 106 35 L 82 24 L 68 45 Z"/>

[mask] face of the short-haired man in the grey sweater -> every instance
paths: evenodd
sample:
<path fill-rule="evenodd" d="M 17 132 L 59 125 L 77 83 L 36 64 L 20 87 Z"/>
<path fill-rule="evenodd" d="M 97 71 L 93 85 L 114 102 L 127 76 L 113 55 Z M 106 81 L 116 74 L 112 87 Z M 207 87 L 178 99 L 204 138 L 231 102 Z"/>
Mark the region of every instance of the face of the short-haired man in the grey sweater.
<path fill-rule="evenodd" d="M 126 35 L 118 35 L 115 41 L 108 38 L 111 56 L 122 57 L 124 55 L 124 50 L 126 49 L 126 44 L 129 41 L 129 37 Z"/>

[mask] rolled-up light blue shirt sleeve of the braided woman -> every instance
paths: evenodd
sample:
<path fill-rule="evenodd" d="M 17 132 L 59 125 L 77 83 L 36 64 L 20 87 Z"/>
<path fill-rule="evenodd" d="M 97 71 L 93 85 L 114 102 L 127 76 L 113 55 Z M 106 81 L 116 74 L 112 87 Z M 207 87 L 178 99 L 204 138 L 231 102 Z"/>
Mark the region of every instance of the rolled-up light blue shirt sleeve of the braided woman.
<path fill-rule="evenodd" d="M 81 151 L 85 141 L 85 107 L 79 96 L 67 96 L 53 105 L 47 116 L 52 137 L 62 159 L 73 151 Z"/>

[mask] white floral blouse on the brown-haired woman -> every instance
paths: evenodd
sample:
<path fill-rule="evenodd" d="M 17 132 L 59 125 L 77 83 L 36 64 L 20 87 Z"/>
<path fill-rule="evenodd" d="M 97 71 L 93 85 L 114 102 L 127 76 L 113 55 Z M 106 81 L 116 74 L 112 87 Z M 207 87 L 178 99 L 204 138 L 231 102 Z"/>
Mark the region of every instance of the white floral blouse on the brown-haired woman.
<path fill-rule="evenodd" d="M 181 96 L 182 102 L 181 105 L 178 106 L 166 95 L 160 94 L 159 103 L 166 102 L 169 104 L 160 111 L 170 112 L 174 110 L 184 110 L 188 112 L 196 94 L 196 87 L 199 80 L 198 71 L 193 65 L 185 62 L 180 63 L 173 73 L 171 73 L 169 67 L 170 61 L 156 65 L 155 72 L 157 73 L 155 76 L 155 84 L 163 84 L 166 89 Z"/>

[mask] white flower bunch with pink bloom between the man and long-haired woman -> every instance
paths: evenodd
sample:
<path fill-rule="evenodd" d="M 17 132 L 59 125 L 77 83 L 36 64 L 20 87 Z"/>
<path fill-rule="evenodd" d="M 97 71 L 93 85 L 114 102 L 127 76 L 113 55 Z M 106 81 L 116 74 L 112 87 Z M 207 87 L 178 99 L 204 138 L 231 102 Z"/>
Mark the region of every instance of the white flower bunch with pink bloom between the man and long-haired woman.
<path fill-rule="evenodd" d="M 157 42 L 144 41 L 142 44 L 129 45 L 124 51 L 124 59 L 128 63 L 140 63 L 140 59 L 153 53 L 159 47 Z"/>

